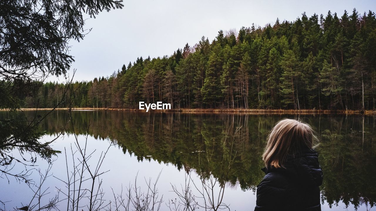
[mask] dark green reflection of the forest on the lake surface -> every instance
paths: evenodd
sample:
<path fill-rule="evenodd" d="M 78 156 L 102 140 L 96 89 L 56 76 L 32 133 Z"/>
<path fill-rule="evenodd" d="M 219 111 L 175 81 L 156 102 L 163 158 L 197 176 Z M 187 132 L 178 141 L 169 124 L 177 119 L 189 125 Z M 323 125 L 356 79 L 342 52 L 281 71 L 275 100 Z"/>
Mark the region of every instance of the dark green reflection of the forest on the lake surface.
<path fill-rule="evenodd" d="M 66 112 L 56 111 L 45 119 L 42 130 L 58 133 L 67 117 Z M 372 116 L 73 112 L 76 134 L 86 133 L 90 119 L 91 136 L 112 140 L 138 161 L 173 164 L 179 170 L 194 170 L 203 178 L 214 176 L 220 184 L 239 184 L 242 190 L 252 191 L 264 176 L 261 154 L 267 133 L 282 118 L 304 119 L 321 138 L 323 204 L 357 208 L 376 203 Z M 69 128 L 67 133 L 71 133 Z"/>

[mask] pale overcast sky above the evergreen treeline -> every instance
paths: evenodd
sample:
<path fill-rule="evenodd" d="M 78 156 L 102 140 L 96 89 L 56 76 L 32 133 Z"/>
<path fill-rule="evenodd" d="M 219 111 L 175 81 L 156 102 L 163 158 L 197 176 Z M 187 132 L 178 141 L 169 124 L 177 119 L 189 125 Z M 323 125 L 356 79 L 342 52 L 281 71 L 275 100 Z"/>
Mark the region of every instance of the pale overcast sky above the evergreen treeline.
<path fill-rule="evenodd" d="M 324 16 L 330 10 L 343 15 L 353 8 L 363 14 L 376 12 L 375 0 L 124 0 L 123 9 L 102 12 L 87 19 L 91 32 L 80 41 L 71 41 L 70 55 L 76 60 L 74 81 L 106 77 L 137 57 L 171 55 L 186 43 L 193 46 L 202 36 L 212 41 L 219 30 L 242 26 L 264 27 L 277 18 L 294 21 L 306 12 Z M 64 78 L 48 80 L 64 82 Z"/>

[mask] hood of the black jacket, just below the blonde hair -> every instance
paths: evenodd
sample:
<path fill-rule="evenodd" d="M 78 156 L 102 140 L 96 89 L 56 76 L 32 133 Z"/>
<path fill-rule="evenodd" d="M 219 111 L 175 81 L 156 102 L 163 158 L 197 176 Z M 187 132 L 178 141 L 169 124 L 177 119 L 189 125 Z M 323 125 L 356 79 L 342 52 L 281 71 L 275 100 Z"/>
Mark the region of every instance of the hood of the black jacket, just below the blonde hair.
<path fill-rule="evenodd" d="M 320 186 L 323 183 L 323 172 L 318 163 L 318 154 L 314 149 L 306 149 L 294 155 L 288 155 L 284 167 L 263 168 L 265 174 L 269 172 L 286 173 L 291 179 L 297 179 L 302 184 Z"/>

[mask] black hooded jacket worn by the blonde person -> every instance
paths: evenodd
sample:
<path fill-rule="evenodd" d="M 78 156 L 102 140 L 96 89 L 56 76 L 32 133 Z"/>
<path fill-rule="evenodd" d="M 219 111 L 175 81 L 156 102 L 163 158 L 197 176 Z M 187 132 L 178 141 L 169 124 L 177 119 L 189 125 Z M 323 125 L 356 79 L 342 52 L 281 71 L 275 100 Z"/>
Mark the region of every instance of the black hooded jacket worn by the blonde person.
<path fill-rule="evenodd" d="M 264 168 L 255 211 L 321 211 L 323 172 L 314 149 L 288 156 L 284 168 Z"/>

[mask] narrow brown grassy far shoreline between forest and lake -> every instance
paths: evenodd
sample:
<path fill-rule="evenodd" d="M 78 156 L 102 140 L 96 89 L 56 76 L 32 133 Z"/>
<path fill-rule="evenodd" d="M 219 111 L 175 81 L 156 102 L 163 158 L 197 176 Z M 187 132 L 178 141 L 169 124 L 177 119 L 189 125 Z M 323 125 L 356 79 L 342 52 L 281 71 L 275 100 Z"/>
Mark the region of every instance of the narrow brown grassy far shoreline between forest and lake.
<path fill-rule="evenodd" d="M 53 108 L 21 108 L 23 111 L 35 110 L 52 110 Z M 68 110 L 68 108 L 56 108 L 55 110 Z M 146 110 L 139 109 L 117 109 L 117 108 L 72 108 L 73 111 L 96 111 L 96 110 L 116 110 L 116 111 L 132 111 L 132 112 L 146 112 Z M 164 109 L 164 110 L 149 110 L 149 112 L 182 112 L 182 113 L 255 113 L 255 114 L 362 114 L 361 110 L 317 110 L 317 109 Z M 376 115 L 375 110 L 365 110 L 365 115 Z"/>

